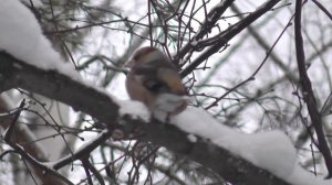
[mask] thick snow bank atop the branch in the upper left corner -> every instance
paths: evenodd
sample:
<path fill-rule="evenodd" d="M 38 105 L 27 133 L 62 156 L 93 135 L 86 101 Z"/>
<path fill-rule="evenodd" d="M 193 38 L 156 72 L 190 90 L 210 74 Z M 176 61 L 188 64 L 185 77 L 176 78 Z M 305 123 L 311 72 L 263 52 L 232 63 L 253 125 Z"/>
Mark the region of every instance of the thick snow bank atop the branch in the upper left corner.
<path fill-rule="evenodd" d="M 38 6 L 38 1 L 33 1 Z M 54 69 L 80 80 L 72 64 L 55 52 L 31 11 L 18 0 L 0 6 L 0 51 L 43 69 Z"/>

